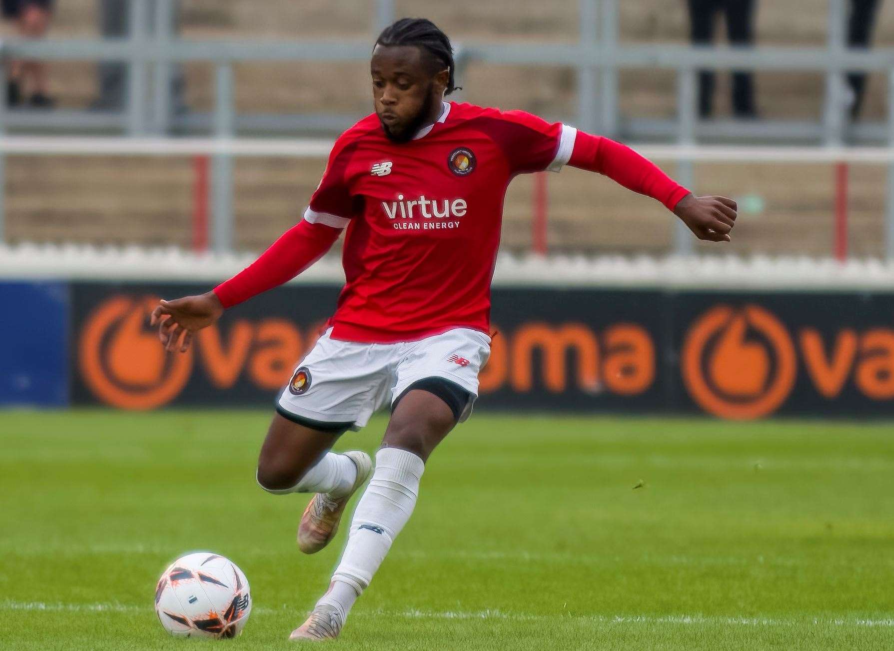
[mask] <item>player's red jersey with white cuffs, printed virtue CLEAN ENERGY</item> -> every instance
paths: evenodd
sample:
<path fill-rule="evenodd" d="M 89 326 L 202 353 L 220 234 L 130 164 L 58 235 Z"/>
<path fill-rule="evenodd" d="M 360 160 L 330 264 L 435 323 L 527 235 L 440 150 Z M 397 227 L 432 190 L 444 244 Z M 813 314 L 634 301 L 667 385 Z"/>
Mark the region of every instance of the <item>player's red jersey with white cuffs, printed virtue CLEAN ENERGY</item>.
<path fill-rule="evenodd" d="M 347 228 L 333 338 L 488 332 L 506 188 L 516 174 L 561 169 L 576 136 L 531 114 L 452 102 L 406 143 L 387 139 L 375 114 L 345 131 L 304 215 Z"/>

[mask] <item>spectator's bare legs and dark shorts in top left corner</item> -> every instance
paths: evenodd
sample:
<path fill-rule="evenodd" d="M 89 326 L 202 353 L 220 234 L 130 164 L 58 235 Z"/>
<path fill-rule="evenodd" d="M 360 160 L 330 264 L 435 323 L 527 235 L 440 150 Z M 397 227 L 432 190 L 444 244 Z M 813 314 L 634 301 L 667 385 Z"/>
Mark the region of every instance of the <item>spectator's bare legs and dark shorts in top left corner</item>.
<path fill-rule="evenodd" d="M 42 38 L 49 27 L 53 0 L 2 0 L 3 17 L 14 21 L 16 30 L 25 38 Z M 6 82 L 7 106 L 21 105 L 30 87 L 30 106 L 49 108 L 53 100 L 47 95 L 46 63 L 13 61 Z"/>

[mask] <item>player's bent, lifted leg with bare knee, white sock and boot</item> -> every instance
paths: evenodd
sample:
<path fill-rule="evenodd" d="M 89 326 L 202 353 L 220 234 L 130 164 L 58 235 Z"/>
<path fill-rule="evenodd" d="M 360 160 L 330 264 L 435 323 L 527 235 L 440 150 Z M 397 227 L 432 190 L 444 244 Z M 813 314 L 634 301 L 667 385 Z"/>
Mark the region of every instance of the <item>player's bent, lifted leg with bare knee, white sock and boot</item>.
<path fill-rule="evenodd" d="M 308 426 L 276 414 L 261 447 L 257 483 L 262 488 L 275 495 L 316 494 L 298 529 L 298 545 L 306 554 L 323 549 L 333 538 L 350 496 L 373 469 L 366 452 L 329 452 L 347 425 Z"/>

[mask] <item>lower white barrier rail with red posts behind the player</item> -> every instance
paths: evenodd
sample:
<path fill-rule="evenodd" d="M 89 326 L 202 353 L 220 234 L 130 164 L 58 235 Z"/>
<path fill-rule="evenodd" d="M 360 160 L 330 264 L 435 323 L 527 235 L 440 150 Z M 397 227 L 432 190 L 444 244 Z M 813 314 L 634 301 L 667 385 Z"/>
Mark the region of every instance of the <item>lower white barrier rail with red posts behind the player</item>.
<path fill-rule="evenodd" d="M 31 156 L 190 156 L 193 159 L 192 237 L 194 249 L 224 253 L 233 248 L 233 158 L 269 157 L 325 159 L 331 139 L 263 138 L 119 138 L 83 136 L 0 136 L 0 242 L 4 240 L 3 157 Z M 884 207 L 884 254 L 894 259 L 894 148 L 890 147 L 761 147 L 723 145 L 632 145 L 643 156 L 678 164 L 675 176 L 696 187 L 695 163 L 767 163 L 775 165 L 834 164 L 834 231 L 830 254 L 848 257 L 848 165 L 888 165 Z M 532 249 L 548 252 L 549 174 L 536 174 L 531 197 Z M 697 191 L 697 188 L 696 188 Z M 693 238 L 686 226 L 675 224 L 674 250 L 692 252 Z"/>

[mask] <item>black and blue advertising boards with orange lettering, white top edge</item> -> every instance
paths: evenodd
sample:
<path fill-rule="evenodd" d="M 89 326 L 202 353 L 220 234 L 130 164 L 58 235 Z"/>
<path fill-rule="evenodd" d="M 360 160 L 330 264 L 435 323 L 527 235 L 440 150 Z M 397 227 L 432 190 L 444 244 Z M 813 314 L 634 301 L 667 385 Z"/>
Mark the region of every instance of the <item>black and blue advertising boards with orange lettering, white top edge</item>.
<path fill-rule="evenodd" d="M 30 269 L 13 269 L 13 253 L 0 255 L 8 265 L 0 265 L 0 300 L 17 306 L 0 327 L 9 349 L 0 403 L 268 406 L 316 341 L 340 285 L 337 261 L 325 260 L 314 274 L 228 311 L 189 353 L 168 356 L 148 326 L 158 297 L 207 291 L 244 260 L 113 251 L 105 264 L 86 265 L 85 249 L 51 253 L 19 251 Z M 42 255 L 55 260 L 43 280 Z M 66 257 L 80 257 L 80 278 L 47 280 L 63 277 Z M 147 282 L 165 267 L 166 280 Z M 111 275 L 114 268 L 122 273 Z M 894 266 L 880 263 L 502 256 L 478 404 L 890 417 L 891 314 Z"/>

